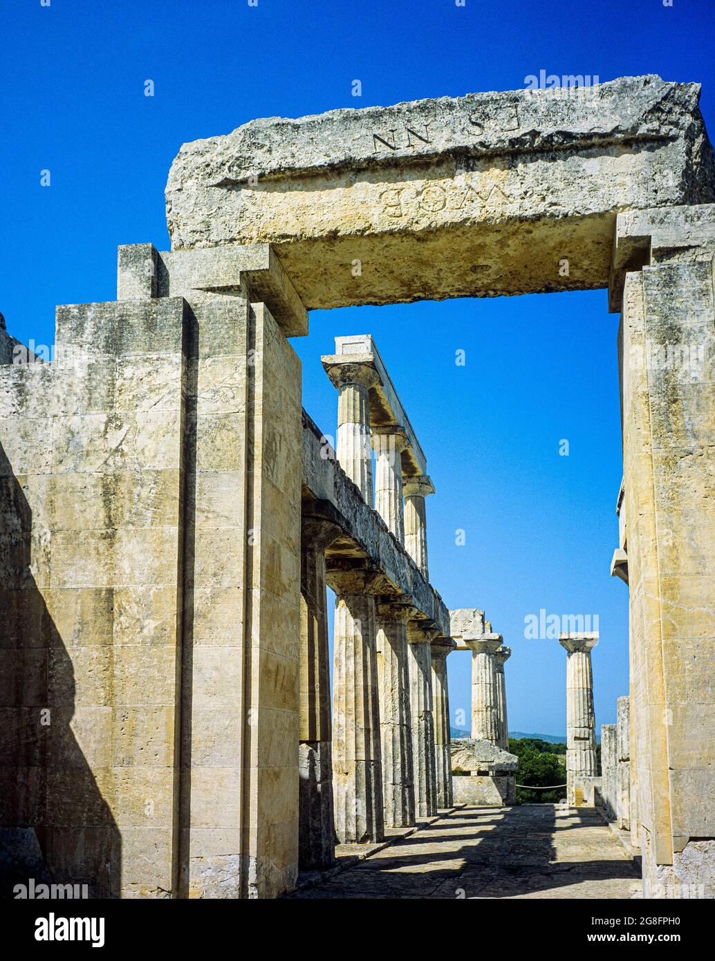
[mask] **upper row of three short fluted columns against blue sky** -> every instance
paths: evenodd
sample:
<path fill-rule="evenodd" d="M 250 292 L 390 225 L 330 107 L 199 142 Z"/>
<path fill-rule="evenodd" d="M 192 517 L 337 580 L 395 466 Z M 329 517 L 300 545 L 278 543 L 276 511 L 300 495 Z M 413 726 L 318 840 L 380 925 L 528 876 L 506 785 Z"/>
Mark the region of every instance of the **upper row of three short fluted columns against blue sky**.
<path fill-rule="evenodd" d="M 429 580 L 425 498 L 434 493 L 432 482 L 425 475 L 403 479 L 401 455 L 408 446 L 403 428 L 371 428 L 369 391 L 379 381 L 377 372 L 367 364 L 346 362 L 332 368 L 331 378 L 338 388 L 338 462 L 372 506 L 374 448 L 375 509 Z"/>

